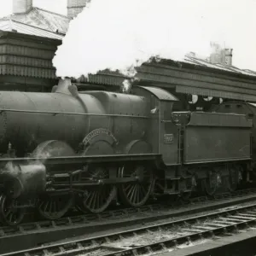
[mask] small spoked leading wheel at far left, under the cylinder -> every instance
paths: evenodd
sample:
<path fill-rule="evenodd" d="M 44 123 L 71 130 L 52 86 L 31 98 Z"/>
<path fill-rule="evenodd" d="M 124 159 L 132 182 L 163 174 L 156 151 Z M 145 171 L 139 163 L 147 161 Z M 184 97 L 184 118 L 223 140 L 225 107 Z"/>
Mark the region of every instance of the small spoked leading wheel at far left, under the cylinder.
<path fill-rule="evenodd" d="M 15 204 L 16 205 L 16 204 Z M 0 196 L 0 219 L 3 224 L 15 226 L 20 224 L 25 216 L 26 208 L 14 207 L 14 200 L 6 195 Z"/>

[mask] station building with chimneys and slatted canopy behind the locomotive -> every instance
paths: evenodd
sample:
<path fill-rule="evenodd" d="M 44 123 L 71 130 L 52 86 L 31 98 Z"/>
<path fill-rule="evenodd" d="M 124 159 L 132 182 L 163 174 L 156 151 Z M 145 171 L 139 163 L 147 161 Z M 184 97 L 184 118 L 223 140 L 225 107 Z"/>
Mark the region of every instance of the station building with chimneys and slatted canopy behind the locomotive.
<path fill-rule="evenodd" d="M 90 0 L 67 0 L 67 15 L 13 0 L 13 14 L 0 19 L 0 90 L 50 91 L 58 81 L 52 59 L 68 24 Z M 161 60 L 137 68 L 140 84 L 177 95 L 256 102 L 256 73 L 232 66 L 232 49 L 218 49 L 208 59 L 189 53 L 181 61 Z M 79 83 L 118 90 L 124 76 L 100 72 Z"/>

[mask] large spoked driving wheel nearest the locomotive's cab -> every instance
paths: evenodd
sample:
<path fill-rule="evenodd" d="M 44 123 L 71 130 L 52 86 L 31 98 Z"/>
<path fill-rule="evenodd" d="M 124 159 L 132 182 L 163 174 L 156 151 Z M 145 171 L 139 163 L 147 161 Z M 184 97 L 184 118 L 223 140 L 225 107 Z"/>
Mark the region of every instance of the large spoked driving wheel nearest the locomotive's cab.
<path fill-rule="evenodd" d="M 135 177 L 136 182 L 119 186 L 120 200 L 128 207 L 142 207 L 154 189 L 154 174 L 145 166 L 123 166 L 119 177 Z"/>

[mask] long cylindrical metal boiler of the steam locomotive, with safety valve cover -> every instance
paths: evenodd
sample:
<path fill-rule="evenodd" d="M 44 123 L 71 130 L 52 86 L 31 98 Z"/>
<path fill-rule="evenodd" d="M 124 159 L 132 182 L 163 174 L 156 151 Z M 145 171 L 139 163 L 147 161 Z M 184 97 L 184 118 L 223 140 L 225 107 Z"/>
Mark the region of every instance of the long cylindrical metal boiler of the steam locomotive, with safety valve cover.
<path fill-rule="evenodd" d="M 143 137 L 147 109 L 142 97 L 103 91 L 78 93 L 67 87 L 64 80 L 55 93 L 0 92 L 2 153 L 11 143 L 16 155 L 24 156 L 49 140 L 78 150 L 85 135 L 97 128 L 111 131 L 115 140 L 124 144 Z M 127 127 L 131 129 L 129 137 Z"/>

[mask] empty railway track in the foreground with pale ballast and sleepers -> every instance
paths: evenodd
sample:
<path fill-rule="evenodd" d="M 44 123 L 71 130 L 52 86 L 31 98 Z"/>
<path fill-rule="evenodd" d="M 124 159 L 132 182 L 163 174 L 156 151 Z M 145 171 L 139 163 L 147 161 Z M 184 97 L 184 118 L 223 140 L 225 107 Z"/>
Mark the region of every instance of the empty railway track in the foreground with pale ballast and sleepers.
<path fill-rule="evenodd" d="M 189 246 L 206 239 L 218 239 L 240 230 L 256 226 L 256 204 L 247 207 L 203 214 L 165 224 L 116 232 L 108 236 L 96 236 L 71 242 L 38 247 L 3 256 L 33 255 L 148 255 L 172 251 L 180 246 Z M 149 241 L 149 242 L 148 242 Z"/>

